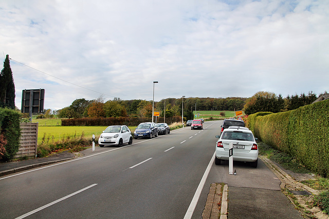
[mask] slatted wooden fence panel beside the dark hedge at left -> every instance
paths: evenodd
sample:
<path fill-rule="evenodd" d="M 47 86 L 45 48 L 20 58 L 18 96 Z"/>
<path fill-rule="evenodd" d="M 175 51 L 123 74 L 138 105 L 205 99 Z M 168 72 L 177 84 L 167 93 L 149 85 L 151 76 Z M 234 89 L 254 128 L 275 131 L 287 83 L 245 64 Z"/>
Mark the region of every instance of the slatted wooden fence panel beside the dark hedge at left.
<path fill-rule="evenodd" d="M 39 123 L 21 123 L 20 148 L 14 158 L 36 157 Z"/>

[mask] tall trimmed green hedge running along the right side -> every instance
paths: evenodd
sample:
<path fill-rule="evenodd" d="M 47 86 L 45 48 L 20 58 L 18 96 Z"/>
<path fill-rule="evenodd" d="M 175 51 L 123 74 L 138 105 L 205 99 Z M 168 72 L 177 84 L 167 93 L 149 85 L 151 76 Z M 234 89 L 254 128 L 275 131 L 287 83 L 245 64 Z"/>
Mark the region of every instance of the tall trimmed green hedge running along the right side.
<path fill-rule="evenodd" d="M 293 155 L 308 169 L 329 176 L 329 100 L 281 113 L 248 116 L 264 143 Z M 250 120 L 250 121 L 249 121 Z"/>

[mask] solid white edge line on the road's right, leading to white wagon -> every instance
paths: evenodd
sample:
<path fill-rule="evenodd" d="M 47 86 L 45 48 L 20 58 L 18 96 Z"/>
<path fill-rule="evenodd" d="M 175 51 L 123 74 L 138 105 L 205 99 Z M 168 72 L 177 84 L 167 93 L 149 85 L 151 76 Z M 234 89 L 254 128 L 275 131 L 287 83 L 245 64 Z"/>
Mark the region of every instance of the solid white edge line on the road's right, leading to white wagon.
<path fill-rule="evenodd" d="M 190 204 L 189 208 L 187 209 L 187 212 L 186 212 L 186 214 L 184 216 L 184 219 L 190 219 L 192 217 L 192 215 L 193 215 L 194 209 L 195 209 L 196 204 L 197 204 L 197 202 L 199 200 L 199 197 L 200 197 L 200 194 L 202 192 L 202 189 L 205 186 L 205 183 L 206 183 L 208 174 L 210 172 L 211 166 L 214 163 L 215 153 L 216 152 L 214 152 L 214 154 L 212 155 L 211 160 L 210 160 L 210 162 L 208 164 L 208 167 L 207 167 L 207 169 L 206 169 L 206 171 L 205 171 L 205 173 L 204 173 L 204 175 L 203 175 L 203 177 L 202 177 L 202 179 L 201 179 L 201 181 L 200 181 L 200 183 L 199 183 L 199 185 L 198 185 L 198 187 L 197 187 L 197 189 L 195 191 L 195 194 L 194 194 L 194 196 L 192 198 L 192 201 L 191 201 L 191 204 Z"/>

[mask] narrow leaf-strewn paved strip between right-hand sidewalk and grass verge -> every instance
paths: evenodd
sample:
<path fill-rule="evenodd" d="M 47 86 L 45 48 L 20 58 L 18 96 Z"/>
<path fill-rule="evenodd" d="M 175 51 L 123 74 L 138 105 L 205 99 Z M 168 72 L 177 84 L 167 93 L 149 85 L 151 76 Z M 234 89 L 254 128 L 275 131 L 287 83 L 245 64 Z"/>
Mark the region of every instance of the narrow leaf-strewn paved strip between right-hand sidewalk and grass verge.
<path fill-rule="evenodd" d="M 323 213 L 319 207 L 312 207 L 312 202 L 314 195 L 320 194 L 320 192 L 316 189 L 310 188 L 298 181 L 296 181 L 293 177 L 288 175 L 284 170 L 278 167 L 275 163 L 269 160 L 265 156 L 260 156 L 264 164 L 279 178 L 281 181 L 280 188 L 281 191 L 288 197 L 290 202 L 295 206 L 296 209 L 304 217 L 310 218 L 329 218 L 327 214 Z M 301 192 L 306 191 L 310 195 L 298 195 L 292 192 Z M 310 208 L 310 206 L 312 208 Z M 306 213 L 307 212 L 307 213 Z M 310 212 L 310 213 L 308 213 Z"/>

